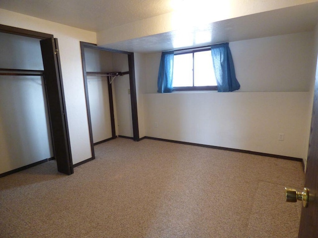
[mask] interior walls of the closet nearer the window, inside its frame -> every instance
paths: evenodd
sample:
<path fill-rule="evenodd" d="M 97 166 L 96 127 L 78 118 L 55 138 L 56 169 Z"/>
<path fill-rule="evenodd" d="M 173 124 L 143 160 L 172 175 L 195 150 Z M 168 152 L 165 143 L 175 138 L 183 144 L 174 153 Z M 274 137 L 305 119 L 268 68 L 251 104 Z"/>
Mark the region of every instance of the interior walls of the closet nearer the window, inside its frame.
<path fill-rule="evenodd" d="M 93 143 L 112 138 L 108 80 L 112 80 L 112 98 L 116 136 L 133 137 L 129 74 L 108 77 L 90 75 L 89 72 L 127 72 L 128 57 L 125 54 L 84 48 L 87 74 L 87 91 Z"/>

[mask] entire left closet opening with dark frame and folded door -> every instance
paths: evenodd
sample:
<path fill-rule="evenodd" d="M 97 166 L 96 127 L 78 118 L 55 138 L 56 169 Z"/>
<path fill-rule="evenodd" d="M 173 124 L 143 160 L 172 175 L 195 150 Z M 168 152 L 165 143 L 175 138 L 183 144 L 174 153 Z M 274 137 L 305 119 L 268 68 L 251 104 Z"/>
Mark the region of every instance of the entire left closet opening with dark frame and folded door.
<path fill-rule="evenodd" d="M 55 159 L 73 174 L 58 41 L 0 25 L 0 177 Z"/>

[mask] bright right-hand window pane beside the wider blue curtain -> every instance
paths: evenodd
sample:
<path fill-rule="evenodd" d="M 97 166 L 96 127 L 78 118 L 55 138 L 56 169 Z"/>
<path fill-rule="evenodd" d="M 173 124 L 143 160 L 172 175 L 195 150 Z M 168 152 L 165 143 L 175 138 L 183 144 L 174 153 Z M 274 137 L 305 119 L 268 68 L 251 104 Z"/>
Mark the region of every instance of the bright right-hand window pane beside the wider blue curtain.
<path fill-rule="evenodd" d="M 194 53 L 194 86 L 217 85 L 211 51 Z"/>

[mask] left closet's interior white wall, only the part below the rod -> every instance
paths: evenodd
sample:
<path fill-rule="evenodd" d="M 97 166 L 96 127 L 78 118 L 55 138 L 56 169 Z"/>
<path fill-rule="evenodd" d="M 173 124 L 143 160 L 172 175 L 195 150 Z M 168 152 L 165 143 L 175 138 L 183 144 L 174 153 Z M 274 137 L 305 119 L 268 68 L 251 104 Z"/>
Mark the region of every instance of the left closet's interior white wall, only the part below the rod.
<path fill-rule="evenodd" d="M 0 174 L 53 157 L 44 81 L 0 76 Z"/>

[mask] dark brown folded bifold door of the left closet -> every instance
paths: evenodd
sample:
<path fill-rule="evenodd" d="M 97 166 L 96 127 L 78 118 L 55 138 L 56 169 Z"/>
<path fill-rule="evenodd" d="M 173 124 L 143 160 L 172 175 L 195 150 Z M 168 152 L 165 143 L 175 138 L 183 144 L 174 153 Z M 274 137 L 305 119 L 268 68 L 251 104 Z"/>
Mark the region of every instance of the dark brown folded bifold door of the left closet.
<path fill-rule="evenodd" d="M 74 173 L 68 130 L 68 120 L 63 89 L 62 70 L 59 57 L 58 40 L 48 38 L 40 41 L 44 82 L 51 122 L 54 157 L 58 171 L 71 175 Z"/>

